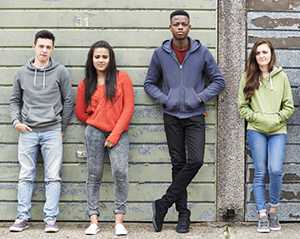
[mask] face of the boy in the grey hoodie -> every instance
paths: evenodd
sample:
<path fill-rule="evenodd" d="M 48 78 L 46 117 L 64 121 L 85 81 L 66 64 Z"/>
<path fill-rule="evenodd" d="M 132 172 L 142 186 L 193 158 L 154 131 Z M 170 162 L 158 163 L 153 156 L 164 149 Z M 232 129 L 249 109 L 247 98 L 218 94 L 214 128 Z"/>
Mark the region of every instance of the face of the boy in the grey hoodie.
<path fill-rule="evenodd" d="M 40 64 L 45 64 L 49 61 L 54 50 L 53 41 L 45 38 L 38 38 L 36 43 L 33 44 L 35 51 L 35 59 Z"/>

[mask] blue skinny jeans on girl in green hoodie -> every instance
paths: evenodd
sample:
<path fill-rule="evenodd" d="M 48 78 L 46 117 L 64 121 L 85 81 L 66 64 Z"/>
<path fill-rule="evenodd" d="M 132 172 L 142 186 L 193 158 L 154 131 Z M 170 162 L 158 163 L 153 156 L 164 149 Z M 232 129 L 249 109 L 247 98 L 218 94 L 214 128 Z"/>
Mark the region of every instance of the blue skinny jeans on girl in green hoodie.
<path fill-rule="evenodd" d="M 286 134 L 268 135 L 254 130 L 247 131 L 248 145 L 254 163 L 253 190 L 258 212 L 266 210 L 265 176 L 269 174 L 269 201 L 277 207 L 280 200 Z"/>

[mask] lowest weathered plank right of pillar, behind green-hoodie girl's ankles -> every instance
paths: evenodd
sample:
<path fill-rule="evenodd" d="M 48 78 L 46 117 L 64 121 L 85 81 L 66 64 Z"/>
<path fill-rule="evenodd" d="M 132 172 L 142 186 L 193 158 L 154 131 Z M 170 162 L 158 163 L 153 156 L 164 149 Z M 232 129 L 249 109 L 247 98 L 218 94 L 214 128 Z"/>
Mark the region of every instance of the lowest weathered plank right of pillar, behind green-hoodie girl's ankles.
<path fill-rule="evenodd" d="M 300 221 L 299 203 L 281 203 L 278 214 L 280 221 Z M 254 203 L 247 203 L 246 221 L 257 221 L 257 211 Z"/>

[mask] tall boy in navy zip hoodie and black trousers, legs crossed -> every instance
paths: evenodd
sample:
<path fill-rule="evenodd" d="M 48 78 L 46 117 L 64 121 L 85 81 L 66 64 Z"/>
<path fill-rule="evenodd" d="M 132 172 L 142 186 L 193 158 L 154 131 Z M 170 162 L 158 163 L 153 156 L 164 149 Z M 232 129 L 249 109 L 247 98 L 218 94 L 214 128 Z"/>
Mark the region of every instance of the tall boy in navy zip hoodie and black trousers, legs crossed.
<path fill-rule="evenodd" d="M 162 229 L 168 209 L 178 211 L 176 231 L 189 231 L 191 212 L 187 186 L 203 165 L 205 145 L 204 105 L 225 87 L 213 56 L 198 40 L 188 37 L 190 16 L 184 10 L 170 15 L 173 38 L 154 51 L 144 88 L 163 106 L 164 127 L 172 162 L 172 183 L 152 204 L 155 231 Z M 205 85 L 205 78 L 210 83 Z"/>

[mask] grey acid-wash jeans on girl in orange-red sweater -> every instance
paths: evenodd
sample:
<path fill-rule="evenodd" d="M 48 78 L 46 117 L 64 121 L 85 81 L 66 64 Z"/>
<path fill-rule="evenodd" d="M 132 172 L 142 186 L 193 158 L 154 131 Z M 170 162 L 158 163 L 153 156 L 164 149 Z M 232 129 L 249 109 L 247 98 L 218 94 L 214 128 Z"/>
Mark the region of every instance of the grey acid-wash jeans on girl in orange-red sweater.
<path fill-rule="evenodd" d="M 129 138 L 124 132 L 119 142 L 111 149 L 104 147 L 109 133 L 102 132 L 92 126 L 85 129 L 87 148 L 87 203 L 88 215 L 99 215 L 99 191 L 103 176 L 103 164 L 106 151 L 110 158 L 115 192 L 115 214 L 125 214 L 128 197 L 128 153 Z"/>

